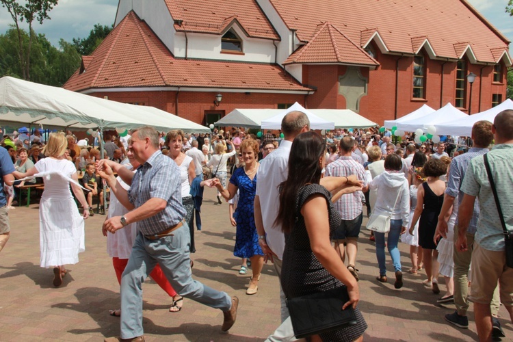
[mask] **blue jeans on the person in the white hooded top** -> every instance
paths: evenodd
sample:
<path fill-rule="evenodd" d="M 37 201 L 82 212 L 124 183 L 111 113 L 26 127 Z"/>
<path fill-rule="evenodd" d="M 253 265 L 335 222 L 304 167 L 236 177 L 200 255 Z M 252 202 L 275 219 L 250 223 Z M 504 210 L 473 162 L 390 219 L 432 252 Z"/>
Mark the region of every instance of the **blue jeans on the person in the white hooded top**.
<path fill-rule="evenodd" d="M 399 243 L 402 224 L 403 220 L 390 220 L 390 231 L 386 239 L 395 272 L 401 270 L 401 253 L 399 252 L 399 248 L 397 248 L 397 244 Z M 376 258 L 378 259 L 378 265 L 380 267 L 380 276 L 386 276 L 384 234 L 374 232 L 374 238 L 376 239 Z"/>

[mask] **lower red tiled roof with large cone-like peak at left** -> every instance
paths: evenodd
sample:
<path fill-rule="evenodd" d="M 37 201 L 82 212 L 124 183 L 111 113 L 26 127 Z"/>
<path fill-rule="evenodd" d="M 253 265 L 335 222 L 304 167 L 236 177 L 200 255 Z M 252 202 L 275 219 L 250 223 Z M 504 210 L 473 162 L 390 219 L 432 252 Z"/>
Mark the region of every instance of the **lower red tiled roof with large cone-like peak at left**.
<path fill-rule="evenodd" d="M 83 73 L 75 71 L 64 88 L 180 86 L 306 91 L 276 64 L 177 60 L 134 12 L 86 56 Z"/>

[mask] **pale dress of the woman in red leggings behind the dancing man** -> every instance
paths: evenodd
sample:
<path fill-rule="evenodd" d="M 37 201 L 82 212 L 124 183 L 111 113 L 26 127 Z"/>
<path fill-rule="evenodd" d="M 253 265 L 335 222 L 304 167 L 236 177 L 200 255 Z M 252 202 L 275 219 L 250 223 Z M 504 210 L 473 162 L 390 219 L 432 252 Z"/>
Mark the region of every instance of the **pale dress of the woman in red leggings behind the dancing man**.
<path fill-rule="evenodd" d="M 131 167 L 131 165 L 129 165 Z M 123 189 L 128 190 L 130 186 L 124 183 L 118 176 L 118 183 Z M 110 194 L 109 213 L 107 218 L 114 218 L 114 216 L 122 216 L 129 212 L 116 198 L 113 192 Z M 132 252 L 133 241 L 137 236 L 137 223 L 133 222 L 124 228 L 116 231 L 115 234 L 107 232 L 107 253 L 111 258 L 129 259 Z"/>

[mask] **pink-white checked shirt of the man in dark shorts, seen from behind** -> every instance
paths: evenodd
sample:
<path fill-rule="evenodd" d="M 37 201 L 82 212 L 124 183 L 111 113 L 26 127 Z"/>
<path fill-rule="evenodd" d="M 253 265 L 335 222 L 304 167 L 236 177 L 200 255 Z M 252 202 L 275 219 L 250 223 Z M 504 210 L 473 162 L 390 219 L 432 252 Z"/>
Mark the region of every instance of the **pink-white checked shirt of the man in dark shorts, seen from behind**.
<path fill-rule="evenodd" d="M 367 185 L 367 177 L 363 165 L 355 161 L 353 157 L 339 157 L 326 167 L 326 176 L 343 177 L 356 174 L 360 181 Z M 334 203 L 335 209 L 341 214 L 342 220 L 353 220 L 362 213 L 362 192 L 344 194 Z"/>

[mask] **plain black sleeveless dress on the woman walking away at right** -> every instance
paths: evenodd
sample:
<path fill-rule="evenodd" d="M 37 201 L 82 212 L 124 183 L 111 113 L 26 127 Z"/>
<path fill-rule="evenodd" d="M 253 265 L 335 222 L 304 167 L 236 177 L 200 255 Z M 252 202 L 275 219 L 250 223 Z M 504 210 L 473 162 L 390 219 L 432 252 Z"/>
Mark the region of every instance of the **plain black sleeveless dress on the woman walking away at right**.
<path fill-rule="evenodd" d="M 419 220 L 419 245 L 428 250 L 436 250 L 433 238 L 438 223 L 438 215 L 443 205 L 443 194 L 436 196 L 427 182 L 424 187 L 424 208 Z"/>

